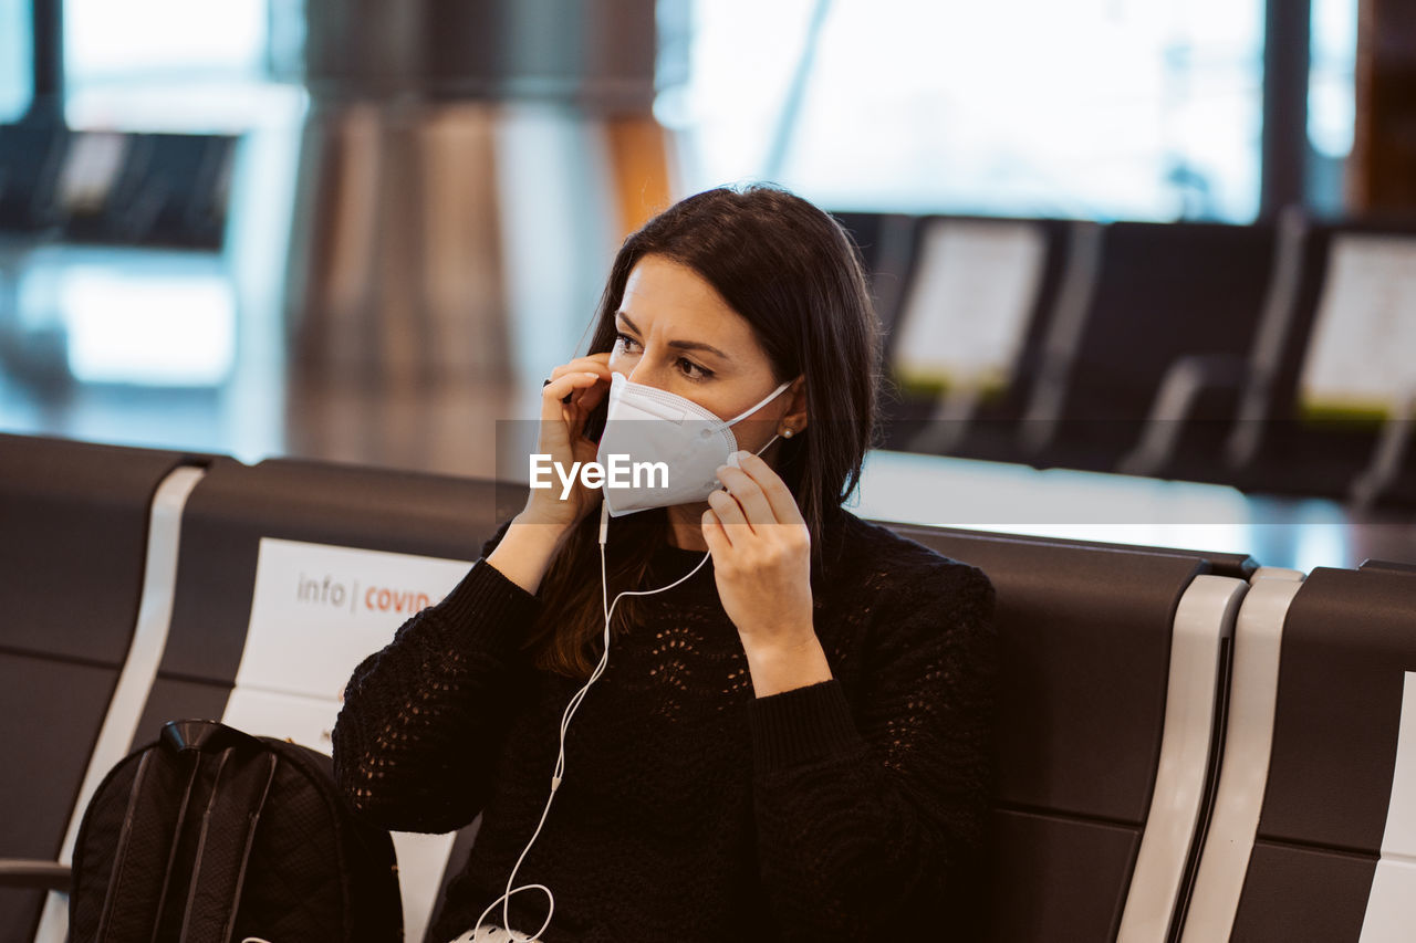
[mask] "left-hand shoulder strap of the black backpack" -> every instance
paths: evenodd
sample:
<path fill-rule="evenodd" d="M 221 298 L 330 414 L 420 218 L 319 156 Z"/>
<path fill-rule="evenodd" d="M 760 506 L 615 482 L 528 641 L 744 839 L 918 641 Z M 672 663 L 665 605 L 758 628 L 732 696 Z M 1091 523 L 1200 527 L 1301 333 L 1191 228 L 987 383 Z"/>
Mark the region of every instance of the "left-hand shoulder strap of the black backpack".
<path fill-rule="evenodd" d="M 156 933 L 171 879 L 177 840 L 187 820 L 198 773 L 195 755 L 184 765 L 171 765 L 156 749 L 149 749 L 139 759 L 113 851 L 113 869 L 103 895 L 95 943 L 142 939 Z M 174 804 L 176 818 L 171 814 Z M 167 867 L 159 884 L 144 868 L 153 861 L 164 859 Z"/>

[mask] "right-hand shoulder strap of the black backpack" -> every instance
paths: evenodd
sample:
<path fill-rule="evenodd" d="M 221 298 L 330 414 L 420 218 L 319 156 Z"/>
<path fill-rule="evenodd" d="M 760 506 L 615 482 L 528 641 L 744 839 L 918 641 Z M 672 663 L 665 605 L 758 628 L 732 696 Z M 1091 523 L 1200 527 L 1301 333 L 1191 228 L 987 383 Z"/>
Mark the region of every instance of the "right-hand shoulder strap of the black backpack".
<path fill-rule="evenodd" d="M 180 943 L 228 943 L 236 922 L 256 824 L 279 759 L 241 746 L 221 752 L 211 800 L 197 840 L 197 864 L 183 913 Z"/>

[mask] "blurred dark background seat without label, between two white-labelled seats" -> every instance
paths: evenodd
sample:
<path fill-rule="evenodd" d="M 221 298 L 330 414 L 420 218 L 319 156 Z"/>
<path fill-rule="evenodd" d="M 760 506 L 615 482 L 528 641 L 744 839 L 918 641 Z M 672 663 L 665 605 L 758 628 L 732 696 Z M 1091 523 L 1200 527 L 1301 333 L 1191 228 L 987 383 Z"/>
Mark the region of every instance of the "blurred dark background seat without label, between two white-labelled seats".
<path fill-rule="evenodd" d="M 1103 227 L 1090 283 L 1061 303 L 1044 341 L 1021 428 L 1027 460 L 1129 470 L 1151 426 L 1184 423 L 1192 436 L 1178 450 L 1218 467 L 1276 246 L 1269 224 Z M 1194 392 L 1177 398 L 1187 384 Z"/>

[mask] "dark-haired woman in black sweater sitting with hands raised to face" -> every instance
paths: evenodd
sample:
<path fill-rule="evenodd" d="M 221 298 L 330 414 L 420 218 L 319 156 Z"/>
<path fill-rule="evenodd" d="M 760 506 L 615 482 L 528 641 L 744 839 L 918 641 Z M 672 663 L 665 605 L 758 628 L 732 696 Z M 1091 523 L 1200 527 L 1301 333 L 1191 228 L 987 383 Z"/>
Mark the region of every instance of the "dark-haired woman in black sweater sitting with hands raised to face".
<path fill-rule="evenodd" d="M 612 388 L 750 411 L 742 452 L 724 490 L 616 514 L 603 547 L 603 490 L 531 490 L 355 668 L 353 804 L 404 831 L 483 816 L 430 939 L 976 939 L 993 588 L 841 507 L 878 377 L 858 253 L 804 200 L 712 190 L 626 239 L 538 453 L 593 460 Z"/>

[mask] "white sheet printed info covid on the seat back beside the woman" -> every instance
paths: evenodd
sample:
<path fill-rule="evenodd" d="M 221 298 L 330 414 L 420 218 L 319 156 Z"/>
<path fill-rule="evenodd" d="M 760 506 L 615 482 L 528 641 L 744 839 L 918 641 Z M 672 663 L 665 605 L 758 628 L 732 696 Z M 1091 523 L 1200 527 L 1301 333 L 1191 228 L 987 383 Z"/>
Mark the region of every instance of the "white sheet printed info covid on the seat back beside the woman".
<path fill-rule="evenodd" d="M 236 690 L 338 701 L 350 674 L 472 562 L 261 538 Z M 314 746 L 314 743 L 312 743 Z"/>

